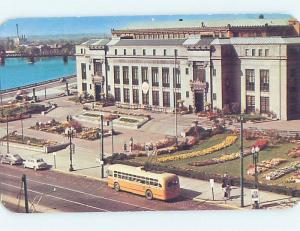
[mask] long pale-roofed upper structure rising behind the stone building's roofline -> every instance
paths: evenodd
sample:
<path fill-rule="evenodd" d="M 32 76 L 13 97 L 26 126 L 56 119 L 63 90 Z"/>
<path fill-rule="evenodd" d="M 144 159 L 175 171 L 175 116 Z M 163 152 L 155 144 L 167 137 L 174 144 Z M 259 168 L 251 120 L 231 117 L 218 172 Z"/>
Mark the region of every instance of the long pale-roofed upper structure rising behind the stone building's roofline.
<path fill-rule="evenodd" d="M 112 30 L 114 37 L 133 39 L 178 39 L 192 36 L 232 37 L 295 37 L 300 34 L 296 19 L 242 19 L 212 21 L 149 22 L 126 29 Z"/>

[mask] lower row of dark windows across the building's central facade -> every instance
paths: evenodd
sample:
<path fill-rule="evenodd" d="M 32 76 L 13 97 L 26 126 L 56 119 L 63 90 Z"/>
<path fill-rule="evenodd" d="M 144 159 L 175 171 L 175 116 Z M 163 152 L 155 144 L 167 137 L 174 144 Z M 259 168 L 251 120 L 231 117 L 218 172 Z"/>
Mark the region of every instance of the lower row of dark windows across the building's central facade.
<path fill-rule="evenodd" d="M 115 100 L 117 102 L 121 102 L 121 89 L 115 88 Z M 181 100 L 181 93 L 177 92 L 176 94 L 176 102 Z M 187 96 L 189 96 L 189 92 L 187 91 Z M 162 92 L 163 97 L 163 107 L 170 107 L 170 92 L 163 91 Z M 123 89 L 123 102 L 124 103 L 130 103 L 130 93 L 128 88 Z M 132 89 L 132 103 L 139 104 L 139 90 L 138 89 Z M 142 93 L 142 104 L 149 105 L 149 92 L 147 94 Z M 152 105 L 159 106 L 159 91 L 152 91 Z M 174 102 L 172 103 L 174 105 Z"/>

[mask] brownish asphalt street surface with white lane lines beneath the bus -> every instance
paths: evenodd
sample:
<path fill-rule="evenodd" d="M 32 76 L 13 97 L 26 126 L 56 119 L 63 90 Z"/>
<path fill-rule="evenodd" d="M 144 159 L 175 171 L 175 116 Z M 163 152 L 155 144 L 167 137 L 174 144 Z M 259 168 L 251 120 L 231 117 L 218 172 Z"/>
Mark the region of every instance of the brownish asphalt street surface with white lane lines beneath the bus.
<path fill-rule="evenodd" d="M 0 165 L 0 193 L 4 205 L 24 212 L 22 175 L 27 176 L 30 212 L 116 212 L 224 209 L 188 198 L 190 192 L 165 202 L 149 201 L 127 192 L 115 192 L 106 182 L 51 170 L 33 171 L 21 166 Z"/>

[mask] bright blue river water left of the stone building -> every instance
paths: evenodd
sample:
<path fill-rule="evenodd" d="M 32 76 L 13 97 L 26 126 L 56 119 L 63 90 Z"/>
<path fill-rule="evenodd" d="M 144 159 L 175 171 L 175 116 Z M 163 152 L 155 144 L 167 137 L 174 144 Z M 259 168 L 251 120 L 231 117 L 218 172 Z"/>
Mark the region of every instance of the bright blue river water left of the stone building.
<path fill-rule="evenodd" d="M 43 57 L 36 58 L 33 64 L 27 58 L 7 58 L 5 65 L 0 65 L 2 90 L 74 74 L 76 61 L 70 57 L 67 63 L 62 57 Z"/>

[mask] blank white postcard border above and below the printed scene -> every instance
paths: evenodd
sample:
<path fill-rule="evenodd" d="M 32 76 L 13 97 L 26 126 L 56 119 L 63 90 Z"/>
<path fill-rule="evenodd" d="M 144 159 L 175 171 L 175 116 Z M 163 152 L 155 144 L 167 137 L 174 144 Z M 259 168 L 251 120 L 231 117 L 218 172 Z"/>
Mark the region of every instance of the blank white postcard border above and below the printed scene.
<path fill-rule="evenodd" d="M 287 13 L 299 0 L 0 0 L 0 21 L 16 17 L 188 13 Z M 283 211 L 16 215 L 0 208 L 1 230 L 298 230 L 300 206 Z"/>

